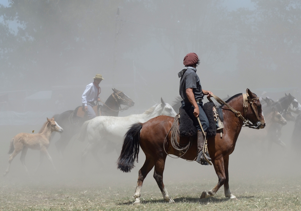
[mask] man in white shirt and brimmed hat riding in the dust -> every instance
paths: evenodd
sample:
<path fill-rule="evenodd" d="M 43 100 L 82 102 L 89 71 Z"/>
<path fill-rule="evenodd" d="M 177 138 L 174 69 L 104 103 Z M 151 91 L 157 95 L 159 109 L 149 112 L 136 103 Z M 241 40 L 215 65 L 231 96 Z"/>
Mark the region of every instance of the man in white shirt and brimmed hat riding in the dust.
<path fill-rule="evenodd" d="M 82 107 L 84 107 L 84 110 L 87 112 L 88 119 L 96 117 L 93 106 L 95 106 L 95 101 L 100 101 L 98 95 L 100 94 L 101 89 L 98 85 L 102 80 L 104 80 L 101 74 L 96 74 L 93 79 L 94 82 L 88 84 L 82 94 Z"/>

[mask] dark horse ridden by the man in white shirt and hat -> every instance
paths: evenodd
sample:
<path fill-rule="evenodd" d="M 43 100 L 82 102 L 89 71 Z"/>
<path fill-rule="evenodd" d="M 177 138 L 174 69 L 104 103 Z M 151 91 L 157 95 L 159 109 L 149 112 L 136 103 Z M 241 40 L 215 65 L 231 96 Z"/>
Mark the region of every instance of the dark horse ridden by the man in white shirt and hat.
<path fill-rule="evenodd" d="M 121 110 L 119 109 L 121 108 L 120 105 L 132 107 L 135 104 L 135 102 L 123 92 L 120 92 L 115 88 L 112 90 L 113 94 L 108 97 L 105 105 L 101 106 L 102 116 L 118 116 L 119 110 Z M 62 133 L 60 139 L 55 142 L 57 150 L 62 154 L 70 139 L 74 134 L 79 132 L 80 127 L 84 122 L 84 118 L 76 116 L 76 113 L 74 112 L 77 111 L 77 109 L 80 109 L 80 107 L 82 106 L 77 107 L 76 110 L 69 110 L 59 115 L 54 115 L 57 124 L 64 128 L 64 133 Z"/>

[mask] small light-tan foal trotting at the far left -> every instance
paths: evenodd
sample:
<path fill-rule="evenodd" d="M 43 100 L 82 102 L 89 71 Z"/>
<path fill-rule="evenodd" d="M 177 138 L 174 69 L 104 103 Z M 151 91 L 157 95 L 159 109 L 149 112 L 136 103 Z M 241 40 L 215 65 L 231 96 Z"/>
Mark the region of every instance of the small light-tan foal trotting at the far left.
<path fill-rule="evenodd" d="M 47 157 L 47 159 L 51 162 L 51 165 L 53 166 L 54 170 L 56 171 L 56 168 L 53 164 L 52 158 L 48 154 L 47 148 L 50 144 L 51 139 L 51 133 L 53 131 L 62 133 L 63 128 L 61 128 L 56 121 L 54 121 L 54 118 L 51 119 L 47 118 L 47 121 L 42 126 L 41 130 L 37 134 L 30 134 L 30 133 L 19 133 L 15 137 L 11 139 L 11 145 L 9 147 L 8 154 L 11 154 L 9 156 L 8 160 L 8 166 L 3 176 L 6 176 L 9 172 L 9 168 L 11 166 L 11 161 L 14 159 L 14 157 L 20 153 L 21 151 L 21 163 L 25 168 L 25 171 L 29 175 L 29 172 L 25 165 L 25 156 L 27 153 L 28 148 L 33 150 L 40 150 L 40 162 L 36 170 L 38 170 L 39 166 L 43 162 L 44 155 Z"/>

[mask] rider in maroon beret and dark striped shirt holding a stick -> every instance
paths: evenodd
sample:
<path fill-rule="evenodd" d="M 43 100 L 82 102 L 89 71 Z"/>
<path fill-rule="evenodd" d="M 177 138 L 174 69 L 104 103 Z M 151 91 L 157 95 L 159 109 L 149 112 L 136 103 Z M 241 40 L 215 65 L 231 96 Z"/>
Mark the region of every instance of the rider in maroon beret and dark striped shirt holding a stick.
<path fill-rule="evenodd" d="M 200 118 L 205 135 L 209 129 L 209 121 L 203 111 L 203 97 L 204 95 L 213 94 L 210 91 L 202 90 L 200 78 L 197 75 L 196 67 L 200 64 L 200 60 L 195 53 L 189 53 L 184 57 L 185 68 L 179 72 L 180 80 L 180 95 L 183 99 L 182 107 L 190 118 L 193 120 L 197 128 L 197 162 L 202 165 L 209 165 L 206 158 L 211 161 L 209 154 L 203 155 L 204 136 L 201 131 L 197 117 Z M 187 69 L 186 69 L 187 68 Z"/>

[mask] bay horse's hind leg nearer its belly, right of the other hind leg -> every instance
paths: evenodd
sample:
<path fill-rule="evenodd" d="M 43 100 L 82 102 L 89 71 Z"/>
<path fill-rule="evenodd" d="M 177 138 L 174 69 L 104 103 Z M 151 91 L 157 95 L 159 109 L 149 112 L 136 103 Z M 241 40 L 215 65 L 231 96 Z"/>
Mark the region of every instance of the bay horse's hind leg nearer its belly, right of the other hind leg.
<path fill-rule="evenodd" d="M 166 156 L 164 158 L 160 158 L 156 161 L 154 178 L 161 190 L 164 200 L 168 201 L 169 203 L 175 203 L 175 201 L 171 197 L 169 197 L 169 194 L 163 184 L 163 171 L 164 171 L 165 159 L 166 159 Z"/>

